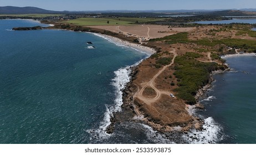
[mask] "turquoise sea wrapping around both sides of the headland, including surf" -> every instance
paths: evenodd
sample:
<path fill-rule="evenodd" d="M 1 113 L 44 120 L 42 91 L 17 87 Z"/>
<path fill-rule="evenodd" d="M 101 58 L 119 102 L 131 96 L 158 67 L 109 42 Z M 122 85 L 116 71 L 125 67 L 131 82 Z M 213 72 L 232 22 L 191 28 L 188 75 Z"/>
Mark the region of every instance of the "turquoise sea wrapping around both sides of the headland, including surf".
<path fill-rule="evenodd" d="M 130 66 L 149 55 L 92 33 L 11 30 L 36 25 L 48 26 L 0 20 L 0 143 L 255 143 L 255 56 L 228 58 L 233 71 L 214 76 L 195 111 L 203 131 L 166 137 L 127 121 L 109 135 Z"/>

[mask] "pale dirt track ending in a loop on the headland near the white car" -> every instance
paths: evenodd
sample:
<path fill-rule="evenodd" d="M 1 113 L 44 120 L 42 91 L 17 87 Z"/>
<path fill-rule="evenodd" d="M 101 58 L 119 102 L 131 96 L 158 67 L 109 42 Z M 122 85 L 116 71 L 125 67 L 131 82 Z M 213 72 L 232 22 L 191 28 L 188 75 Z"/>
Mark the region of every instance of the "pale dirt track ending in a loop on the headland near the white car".
<path fill-rule="evenodd" d="M 176 51 L 175 49 L 173 49 L 173 50 L 171 51 L 171 53 L 174 54 L 171 64 L 164 66 L 160 71 L 158 71 L 158 73 L 157 73 L 155 76 L 153 76 L 153 78 L 152 78 L 149 82 L 147 82 L 147 84 L 146 84 L 144 87 L 142 87 L 142 89 L 141 89 L 139 92 L 137 92 L 137 94 L 135 94 L 135 97 L 137 97 L 137 98 L 140 99 L 141 101 L 145 102 L 146 104 L 150 105 L 150 104 L 152 104 L 153 102 L 156 102 L 158 99 L 160 99 L 160 97 L 161 97 L 162 94 L 170 95 L 171 92 L 158 90 L 158 89 L 155 87 L 155 80 L 156 80 L 156 78 L 157 78 L 167 67 L 171 66 L 171 65 L 174 63 L 174 60 L 175 60 L 175 58 L 176 58 L 176 56 L 177 56 L 177 54 L 175 53 L 175 51 Z M 144 90 L 146 89 L 146 87 L 151 87 L 153 90 L 155 90 L 156 96 L 155 96 L 153 99 L 146 98 L 146 97 L 143 95 L 143 92 L 144 92 Z"/>

